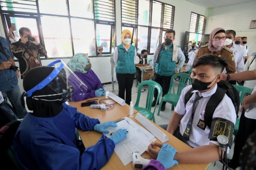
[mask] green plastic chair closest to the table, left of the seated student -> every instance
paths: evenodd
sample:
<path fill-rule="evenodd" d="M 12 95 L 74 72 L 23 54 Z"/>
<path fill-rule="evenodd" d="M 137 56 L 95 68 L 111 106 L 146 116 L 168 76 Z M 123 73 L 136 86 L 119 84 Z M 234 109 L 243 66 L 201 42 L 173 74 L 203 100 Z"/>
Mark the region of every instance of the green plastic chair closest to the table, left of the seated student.
<path fill-rule="evenodd" d="M 139 107 L 141 88 L 144 85 L 149 86 L 148 87 L 147 99 L 146 99 L 146 107 Z M 153 120 L 154 123 L 155 123 L 154 113 L 155 113 L 156 107 L 155 107 L 155 109 L 152 113 L 151 112 L 151 105 L 152 105 L 152 100 L 153 100 L 153 97 L 154 97 L 155 89 L 157 89 L 157 91 L 158 91 L 158 95 L 157 95 L 157 99 L 156 99 L 156 102 L 158 102 L 159 97 L 162 94 L 162 87 L 160 86 L 160 84 L 158 84 L 155 81 L 151 81 L 151 80 L 145 80 L 145 81 L 141 82 L 140 85 L 139 85 L 139 88 L 138 88 L 137 100 L 136 100 L 136 103 L 133 107 L 140 114 L 142 114 L 143 116 L 145 116 L 149 120 Z"/>

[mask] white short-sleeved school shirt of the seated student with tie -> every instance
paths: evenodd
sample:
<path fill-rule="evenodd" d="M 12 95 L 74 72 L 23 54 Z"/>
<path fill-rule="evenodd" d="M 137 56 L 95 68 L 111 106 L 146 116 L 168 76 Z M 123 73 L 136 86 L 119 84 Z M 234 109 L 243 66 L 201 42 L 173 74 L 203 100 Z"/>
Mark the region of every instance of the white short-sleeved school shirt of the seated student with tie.
<path fill-rule="evenodd" d="M 186 107 L 185 104 L 185 94 L 192 88 L 192 85 L 185 87 L 182 92 L 178 104 L 175 108 L 175 112 L 181 115 L 184 115 L 180 121 L 180 134 L 183 135 L 184 131 L 186 130 L 188 120 L 192 114 L 192 105 L 190 101 L 187 102 Z M 192 91 L 194 93 L 190 100 L 194 101 L 195 92 L 198 92 L 199 96 L 203 96 L 202 99 L 198 100 L 194 114 L 194 119 L 192 122 L 192 130 L 189 135 L 189 140 L 187 141 L 188 144 L 192 147 L 202 146 L 202 145 L 209 145 L 210 142 L 216 145 L 219 145 L 217 141 L 210 141 L 208 139 L 210 129 L 206 126 L 205 130 L 197 127 L 199 119 L 204 120 L 204 110 L 207 102 L 209 101 L 210 97 L 216 92 L 217 84 L 215 84 L 212 90 L 209 90 L 204 93 L 200 93 L 198 90 Z M 236 123 L 236 111 L 231 99 L 225 94 L 220 104 L 216 107 L 215 112 L 213 113 L 213 118 L 219 117 L 226 120 L 229 120 Z"/>

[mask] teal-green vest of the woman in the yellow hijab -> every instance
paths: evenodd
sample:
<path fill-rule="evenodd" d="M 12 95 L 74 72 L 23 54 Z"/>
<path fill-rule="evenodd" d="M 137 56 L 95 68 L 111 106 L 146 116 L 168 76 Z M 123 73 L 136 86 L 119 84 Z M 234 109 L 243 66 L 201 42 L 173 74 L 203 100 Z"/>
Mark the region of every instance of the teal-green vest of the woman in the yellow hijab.
<path fill-rule="evenodd" d="M 134 64 L 135 47 L 130 45 L 128 51 L 124 49 L 123 44 L 117 46 L 118 60 L 116 65 L 116 73 L 119 74 L 134 74 L 136 67 Z"/>

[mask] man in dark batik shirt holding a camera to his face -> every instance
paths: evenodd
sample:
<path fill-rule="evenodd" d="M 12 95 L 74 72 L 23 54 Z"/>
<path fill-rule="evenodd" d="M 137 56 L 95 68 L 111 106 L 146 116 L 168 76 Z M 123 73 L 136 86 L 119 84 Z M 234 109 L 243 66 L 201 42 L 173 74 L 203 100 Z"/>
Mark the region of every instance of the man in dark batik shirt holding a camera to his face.
<path fill-rule="evenodd" d="M 21 27 L 19 33 L 20 39 L 12 43 L 11 49 L 13 55 L 19 60 L 21 79 L 23 79 L 28 70 L 42 66 L 39 54 L 46 55 L 46 51 L 36 37 L 31 36 L 29 28 Z"/>

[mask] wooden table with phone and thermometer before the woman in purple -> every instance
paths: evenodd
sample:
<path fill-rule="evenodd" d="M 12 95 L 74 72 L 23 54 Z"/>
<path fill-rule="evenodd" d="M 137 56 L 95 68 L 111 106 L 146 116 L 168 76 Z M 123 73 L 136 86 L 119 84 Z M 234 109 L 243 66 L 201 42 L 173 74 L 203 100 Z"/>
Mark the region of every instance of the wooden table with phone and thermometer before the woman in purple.
<path fill-rule="evenodd" d="M 93 100 L 98 99 L 98 104 L 101 99 L 108 98 L 107 100 L 103 100 L 104 102 L 108 104 L 115 103 L 114 100 L 110 99 L 107 96 L 101 96 L 101 97 L 94 97 L 89 98 L 87 100 Z M 81 103 L 87 101 L 81 101 L 81 102 L 67 102 L 68 105 L 76 107 L 77 111 L 83 113 L 86 116 L 89 116 L 90 118 L 99 119 L 101 123 L 108 122 L 108 121 L 115 121 L 118 119 L 121 119 L 123 117 L 129 116 L 129 108 L 130 106 L 128 104 L 125 104 L 124 106 L 121 106 L 120 104 L 115 104 L 112 108 L 107 109 L 105 111 L 101 111 L 101 109 L 91 109 L 90 106 L 81 107 Z M 137 113 L 138 111 L 134 109 L 134 113 Z M 85 131 L 82 131 L 80 129 L 77 129 L 79 135 L 85 133 Z"/>

